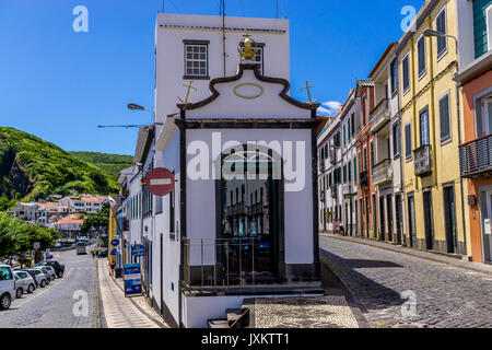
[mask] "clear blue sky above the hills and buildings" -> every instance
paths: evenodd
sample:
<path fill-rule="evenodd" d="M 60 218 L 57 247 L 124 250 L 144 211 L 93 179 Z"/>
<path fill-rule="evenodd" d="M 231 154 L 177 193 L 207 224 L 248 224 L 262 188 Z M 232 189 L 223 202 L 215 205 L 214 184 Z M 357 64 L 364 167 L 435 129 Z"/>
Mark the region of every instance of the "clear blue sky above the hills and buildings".
<path fill-rule="evenodd" d="M 292 96 L 344 102 L 387 45 L 402 35 L 401 9 L 424 0 L 279 0 L 291 22 Z M 165 11 L 219 14 L 220 0 L 165 0 Z M 89 9 L 89 33 L 75 33 L 75 5 Z M 132 154 L 131 112 L 153 107 L 154 24 L 162 0 L 1 0 L 0 126 L 14 127 L 68 151 Z M 276 0 L 226 0 L 226 14 L 274 18 Z"/>

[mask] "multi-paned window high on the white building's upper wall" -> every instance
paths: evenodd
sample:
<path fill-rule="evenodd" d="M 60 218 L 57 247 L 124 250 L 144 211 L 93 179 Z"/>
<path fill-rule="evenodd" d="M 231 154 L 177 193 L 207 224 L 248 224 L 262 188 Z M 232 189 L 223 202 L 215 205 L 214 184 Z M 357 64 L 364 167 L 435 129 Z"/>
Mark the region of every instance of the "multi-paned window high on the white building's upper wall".
<path fill-rule="evenodd" d="M 209 77 L 209 45 L 208 42 L 185 40 L 185 77 Z"/>

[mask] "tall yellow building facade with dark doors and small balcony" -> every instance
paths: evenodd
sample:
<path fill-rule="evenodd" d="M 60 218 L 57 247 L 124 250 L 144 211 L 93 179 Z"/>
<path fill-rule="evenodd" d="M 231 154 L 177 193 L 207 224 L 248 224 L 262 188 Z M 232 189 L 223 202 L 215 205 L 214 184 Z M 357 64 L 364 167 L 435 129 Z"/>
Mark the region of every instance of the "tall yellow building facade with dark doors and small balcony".
<path fill-rule="evenodd" d="M 470 255 L 467 198 L 459 172 L 464 128 L 458 71 L 457 1 L 427 0 L 413 30 L 399 42 L 398 77 L 402 132 L 407 244 L 419 249 Z M 424 35 L 432 30 L 449 35 Z M 458 100 L 457 100 L 458 98 Z"/>

